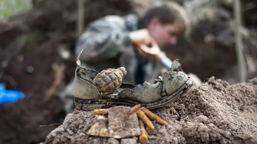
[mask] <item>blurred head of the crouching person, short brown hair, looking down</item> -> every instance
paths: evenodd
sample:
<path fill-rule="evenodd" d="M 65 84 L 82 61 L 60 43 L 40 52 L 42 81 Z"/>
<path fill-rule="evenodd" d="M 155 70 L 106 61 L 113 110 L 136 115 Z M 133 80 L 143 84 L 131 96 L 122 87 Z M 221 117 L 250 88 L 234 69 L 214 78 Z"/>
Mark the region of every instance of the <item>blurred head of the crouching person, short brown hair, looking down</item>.
<path fill-rule="evenodd" d="M 141 20 L 160 47 L 176 45 L 189 28 L 184 9 L 177 3 L 155 6 Z"/>

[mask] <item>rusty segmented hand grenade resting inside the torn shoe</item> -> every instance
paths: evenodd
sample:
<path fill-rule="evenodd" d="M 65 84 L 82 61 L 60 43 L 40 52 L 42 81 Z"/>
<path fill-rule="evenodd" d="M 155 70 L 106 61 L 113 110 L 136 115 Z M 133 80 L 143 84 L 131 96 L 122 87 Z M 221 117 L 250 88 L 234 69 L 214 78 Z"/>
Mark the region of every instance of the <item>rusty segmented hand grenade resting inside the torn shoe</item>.
<path fill-rule="evenodd" d="M 108 95 L 115 92 L 121 86 L 122 79 L 126 74 L 125 67 L 103 70 L 96 75 L 93 83 L 100 93 Z"/>

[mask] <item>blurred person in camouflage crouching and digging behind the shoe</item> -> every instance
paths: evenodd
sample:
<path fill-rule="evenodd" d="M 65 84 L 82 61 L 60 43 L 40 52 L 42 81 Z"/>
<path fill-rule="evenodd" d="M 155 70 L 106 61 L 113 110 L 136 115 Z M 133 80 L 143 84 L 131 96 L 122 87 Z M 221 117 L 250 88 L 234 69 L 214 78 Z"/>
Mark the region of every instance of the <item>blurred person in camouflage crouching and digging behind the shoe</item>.
<path fill-rule="evenodd" d="M 108 15 L 91 22 L 77 41 L 75 54 L 84 67 L 101 72 L 108 68 L 125 67 L 127 75 L 123 82 L 154 83 L 163 75 L 155 59 L 144 56 L 134 45 L 135 41 L 149 42 L 152 39 L 162 49 L 176 45 L 180 36 L 190 31 L 184 9 L 176 3 L 154 6 L 142 17 Z M 64 95 L 73 96 L 73 82 Z M 68 92 L 69 91 L 69 92 Z M 70 102 L 69 106 L 71 106 Z M 69 109 L 69 108 L 67 108 Z M 72 111 L 71 111 L 72 112 Z M 69 112 L 68 112 L 69 113 Z"/>

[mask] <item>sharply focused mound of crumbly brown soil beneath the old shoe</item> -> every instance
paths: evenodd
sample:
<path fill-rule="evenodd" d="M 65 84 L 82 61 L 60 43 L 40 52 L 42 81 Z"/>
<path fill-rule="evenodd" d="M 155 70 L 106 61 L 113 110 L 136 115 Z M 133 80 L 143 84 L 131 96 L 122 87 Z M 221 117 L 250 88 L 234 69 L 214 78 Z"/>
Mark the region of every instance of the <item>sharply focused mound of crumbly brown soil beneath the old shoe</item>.
<path fill-rule="evenodd" d="M 256 143 L 256 84 L 257 78 L 229 85 L 211 77 L 207 83 L 195 86 L 175 103 L 154 110 L 169 126 L 154 122 L 155 130 L 149 135 L 149 143 Z M 113 142 L 113 138 L 108 140 L 86 135 L 94 120 L 93 111 L 71 113 L 41 144 Z"/>

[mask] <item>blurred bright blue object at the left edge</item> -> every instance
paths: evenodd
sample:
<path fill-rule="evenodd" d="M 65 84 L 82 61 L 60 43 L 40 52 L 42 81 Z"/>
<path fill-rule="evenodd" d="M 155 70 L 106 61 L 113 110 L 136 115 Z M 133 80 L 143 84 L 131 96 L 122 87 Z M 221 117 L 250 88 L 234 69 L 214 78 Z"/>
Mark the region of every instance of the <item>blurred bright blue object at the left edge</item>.
<path fill-rule="evenodd" d="M 22 92 L 16 90 L 6 90 L 5 87 L 0 84 L 0 105 L 6 103 L 16 103 L 23 98 L 24 94 Z"/>

